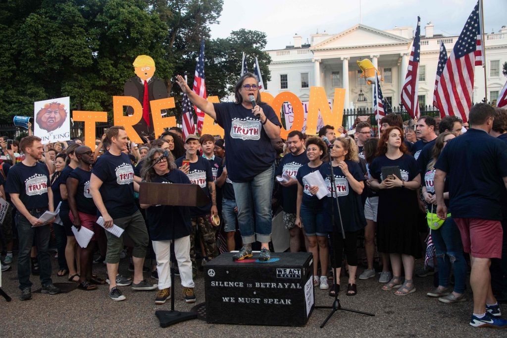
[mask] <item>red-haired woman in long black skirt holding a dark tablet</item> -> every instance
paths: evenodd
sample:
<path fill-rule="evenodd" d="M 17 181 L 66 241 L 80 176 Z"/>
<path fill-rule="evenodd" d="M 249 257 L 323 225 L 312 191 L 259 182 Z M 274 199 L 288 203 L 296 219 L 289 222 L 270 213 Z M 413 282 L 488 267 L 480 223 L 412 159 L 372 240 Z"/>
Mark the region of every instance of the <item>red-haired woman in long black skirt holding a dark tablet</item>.
<path fill-rule="evenodd" d="M 400 176 L 383 177 L 382 168 L 397 166 Z M 415 259 L 421 257 L 421 242 L 417 230 L 417 189 L 421 185 L 419 170 L 414 157 L 409 155 L 404 143 L 403 129 L 389 127 L 381 135 L 377 157 L 370 166 L 370 185 L 378 190 L 377 247 L 379 252 L 389 253 L 392 279 L 382 290 L 399 287 L 395 295 L 415 292 L 412 280 Z M 405 282 L 402 285 L 402 264 Z"/>

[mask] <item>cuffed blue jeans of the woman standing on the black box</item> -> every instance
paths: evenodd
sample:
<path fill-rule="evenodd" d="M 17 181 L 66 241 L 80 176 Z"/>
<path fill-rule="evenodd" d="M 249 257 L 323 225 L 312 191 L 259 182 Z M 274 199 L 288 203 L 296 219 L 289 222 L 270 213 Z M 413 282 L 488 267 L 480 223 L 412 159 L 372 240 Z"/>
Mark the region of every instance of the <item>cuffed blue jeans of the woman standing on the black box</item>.
<path fill-rule="evenodd" d="M 271 194 L 273 191 L 274 164 L 249 182 L 233 182 L 238 206 L 239 231 L 243 244 L 271 241 Z M 253 225 L 255 210 L 256 223 Z"/>

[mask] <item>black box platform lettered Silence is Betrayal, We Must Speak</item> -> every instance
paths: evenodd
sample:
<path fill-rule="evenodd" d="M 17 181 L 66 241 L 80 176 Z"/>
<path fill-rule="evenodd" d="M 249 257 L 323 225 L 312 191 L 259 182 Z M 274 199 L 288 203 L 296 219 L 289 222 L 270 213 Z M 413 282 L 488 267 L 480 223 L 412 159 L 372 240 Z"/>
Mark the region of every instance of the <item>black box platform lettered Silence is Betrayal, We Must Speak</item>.
<path fill-rule="evenodd" d="M 204 265 L 206 321 L 304 326 L 313 310 L 310 253 L 271 253 L 268 262 L 233 261 L 224 253 Z"/>

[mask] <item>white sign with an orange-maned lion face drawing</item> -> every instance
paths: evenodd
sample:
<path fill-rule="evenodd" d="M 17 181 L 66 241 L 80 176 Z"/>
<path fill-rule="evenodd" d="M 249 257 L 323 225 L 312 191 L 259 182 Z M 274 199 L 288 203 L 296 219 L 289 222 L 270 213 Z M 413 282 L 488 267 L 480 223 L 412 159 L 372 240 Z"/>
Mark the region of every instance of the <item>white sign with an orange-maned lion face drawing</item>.
<path fill-rule="evenodd" d="M 70 140 L 70 97 L 59 97 L 33 104 L 33 134 L 42 144 Z"/>

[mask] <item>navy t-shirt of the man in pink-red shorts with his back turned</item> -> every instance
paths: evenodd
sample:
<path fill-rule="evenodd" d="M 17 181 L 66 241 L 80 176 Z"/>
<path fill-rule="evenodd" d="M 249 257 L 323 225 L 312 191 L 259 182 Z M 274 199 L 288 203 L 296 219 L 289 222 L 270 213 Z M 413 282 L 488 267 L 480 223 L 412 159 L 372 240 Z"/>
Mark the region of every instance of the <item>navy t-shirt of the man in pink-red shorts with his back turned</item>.
<path fill-rule="evenodd" d="M 501 220 L 502 177 L 507 177 L 507 145 L 486 131 L 470 128 L 442 150 L 435 168 L 450 175 L 453 217 Z"/>

